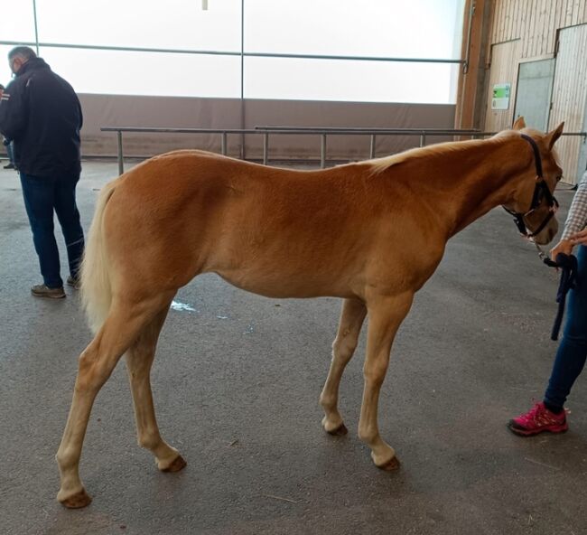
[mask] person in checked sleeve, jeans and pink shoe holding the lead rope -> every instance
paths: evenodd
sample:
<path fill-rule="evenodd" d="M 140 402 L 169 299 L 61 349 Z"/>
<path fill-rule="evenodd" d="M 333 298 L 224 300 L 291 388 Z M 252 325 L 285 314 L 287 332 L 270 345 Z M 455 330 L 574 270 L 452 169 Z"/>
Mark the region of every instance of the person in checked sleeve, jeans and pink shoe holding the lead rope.
<path fill-rule="evenodd" d="M 550 251 L 570 255 L 577 250 L 577 283 L 567 300 L 564 334 L 554 358 L 553 371 L 544 399 L 526 413 L 509 420 L 508 427 L 519 436 L 545 431 L 564 433 L 568 429 L 564 402 L 587 360 L 587 171 L 577 186 L 561 240 Z"/>

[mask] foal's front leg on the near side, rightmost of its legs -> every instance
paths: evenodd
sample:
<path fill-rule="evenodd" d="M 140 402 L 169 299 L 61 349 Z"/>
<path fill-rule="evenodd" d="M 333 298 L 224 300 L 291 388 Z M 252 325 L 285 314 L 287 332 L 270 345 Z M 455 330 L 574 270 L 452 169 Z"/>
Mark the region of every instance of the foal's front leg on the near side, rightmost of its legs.
<path fill-rule="evenodd" d="M 359 438 L 371 448 L 375 465 L 384 470 L 399 466 L 396 452 L 379 436 L 377 404 L 379 391 L 386 377 L 391 345 L 399 325 L 410 310 L 414 294 L 377 296 L 368 302 L 367 357 L 363 368 L 365 386 L 359 419 Z"/>

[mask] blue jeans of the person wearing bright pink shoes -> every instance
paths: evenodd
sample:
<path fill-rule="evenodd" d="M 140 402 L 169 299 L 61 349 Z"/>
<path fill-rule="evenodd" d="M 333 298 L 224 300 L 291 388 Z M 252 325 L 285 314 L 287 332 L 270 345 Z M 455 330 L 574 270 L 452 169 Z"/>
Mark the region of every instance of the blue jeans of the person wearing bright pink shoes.
<path fill-rule="evenodd" d="M 579 246 L 577 260 L 577 287 L 567 296 L 563 340 L 545 392 L 545 403 L 557 409 L 564 407 L 587 359 L 587 247 Z"/>

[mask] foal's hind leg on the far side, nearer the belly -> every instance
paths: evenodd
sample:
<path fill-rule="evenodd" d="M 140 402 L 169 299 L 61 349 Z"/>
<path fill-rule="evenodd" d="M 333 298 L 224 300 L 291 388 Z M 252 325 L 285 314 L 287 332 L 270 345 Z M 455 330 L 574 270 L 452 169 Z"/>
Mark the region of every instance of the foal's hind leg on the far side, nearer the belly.
<path fill-rule="evenodd" d="M 138 444 L 153 452 L 160 470 L 177 472 L 185 466 L 185 461 L 182 455 L 165 443 L 159 434 L 150 380 L 157 339 L 168 310 L 169 306 L 166 306 L 161 313 L 157 314 L 153 322 L 144 328 L 126 352 L 126 369 L 133 392 Z"/>

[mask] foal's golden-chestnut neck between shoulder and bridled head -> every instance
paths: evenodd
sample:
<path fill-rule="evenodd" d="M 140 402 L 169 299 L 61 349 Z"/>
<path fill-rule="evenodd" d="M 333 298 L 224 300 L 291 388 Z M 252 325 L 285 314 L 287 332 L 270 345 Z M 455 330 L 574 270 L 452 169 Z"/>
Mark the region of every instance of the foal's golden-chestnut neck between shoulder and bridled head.
<path fill-rule="evenodd" d="M 487 140 L 439 158 L 435 209 L 449 216 L 449 237 L 508 201 L 528 162 L 518 150 L 506 140 Z"/>

